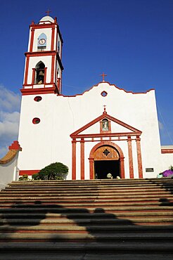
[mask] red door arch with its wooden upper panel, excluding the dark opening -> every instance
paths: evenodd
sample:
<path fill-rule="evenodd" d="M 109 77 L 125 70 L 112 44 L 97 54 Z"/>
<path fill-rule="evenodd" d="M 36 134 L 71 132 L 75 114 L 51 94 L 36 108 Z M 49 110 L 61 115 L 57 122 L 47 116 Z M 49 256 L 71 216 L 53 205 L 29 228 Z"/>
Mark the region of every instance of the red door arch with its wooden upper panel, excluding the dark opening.
<path fill-rule="evenodd" d="M 110 148 L 110 150 L 108 149 Z M 98 152 L 98 154 L 97 154 Z M 100 155 L 99 155 L 100 152 Z M 110 152 L 110 153 L 109 153 Z M 102 154 L 101 154 L 102 153 Z M 106 156 L 104 156 L 104 153 Z M 99 157 L 100 156 L 100 157 Z M 101 158 L 101 156 L 103 158 Z M 111 141 L 102 141 L 97 143 L 94 148 L 91 149 L 89 155 L 89 171 L 90 171 L 90 179 L 95 178 L 94 173 L 94 162 L 96 160 L 105 160 L 105 161 L 114 161 L 119 160 L 120 162 L 120 177 L 124 178 L 124 155 L 121 148 Z"/>

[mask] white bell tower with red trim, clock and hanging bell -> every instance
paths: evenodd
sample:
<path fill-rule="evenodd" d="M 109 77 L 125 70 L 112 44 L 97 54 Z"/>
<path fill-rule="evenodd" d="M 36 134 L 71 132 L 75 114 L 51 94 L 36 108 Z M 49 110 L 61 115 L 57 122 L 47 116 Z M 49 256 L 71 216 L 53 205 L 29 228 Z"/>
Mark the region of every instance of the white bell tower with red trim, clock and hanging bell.
<path fill-rule="evenodd" d="M 30 25 L 25 53 L 23 95 L 61 93 L 63 39 L 56 18 L 47 15 Z"/>

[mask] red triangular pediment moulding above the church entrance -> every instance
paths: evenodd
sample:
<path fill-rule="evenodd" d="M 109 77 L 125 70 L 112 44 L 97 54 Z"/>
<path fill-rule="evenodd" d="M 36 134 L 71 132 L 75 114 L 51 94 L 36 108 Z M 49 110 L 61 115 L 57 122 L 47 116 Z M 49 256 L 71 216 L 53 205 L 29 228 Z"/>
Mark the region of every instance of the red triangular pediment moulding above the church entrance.
<path fill-rule="evenodd" d="M 139 135 L 142 133 L 141 131 L 139 131 L 138 129 L 132 127 L 132 126 L 129 126 L 129 124 L 125 124 L 124 122 L 116 119 L 115 117 L 111 117 L 110 115 L 106 114 L 103 112 L 103 114 L 99 117 L 97 117 L 96 119 L 94 119 L 93 121 L 89 122 L 88 124 L 82 126 L 80 129 L 78 129 L 77 131 L 75 131 L 74 133 L 72 133 L 70 135 L 71 138 L 77 138 L 77 136 L 79 137 L 87 137 L 87 136 L 92 136 L 94 134 L 91 134 L 91 135 L 86 135 L 86 134 L 82 134 L 82 135 L 79 135 L 79 133 L 81 133 L 82 131 L 88 129 L 90 126 L 92 126 L 93 124 L 96 124 L 97 122 L 101 121 L 102 119 L 110 119 L 111 121 L 117 123 L 117 124 L 120 124 L 121 126 L 124 126 L 125 128 L 133 131 L 134 133 L 138 133 Z M 131 134 L 134 134 L 134 133 L 123 133 L 123 136 L 129 136 Z M 116 133 L 117 135 L 117 133 Z M 118 134 L 119 135 L 119 134 Z M 115 136 L 115 134 L 95 134 L 94 137 L 96 136 Z"/>

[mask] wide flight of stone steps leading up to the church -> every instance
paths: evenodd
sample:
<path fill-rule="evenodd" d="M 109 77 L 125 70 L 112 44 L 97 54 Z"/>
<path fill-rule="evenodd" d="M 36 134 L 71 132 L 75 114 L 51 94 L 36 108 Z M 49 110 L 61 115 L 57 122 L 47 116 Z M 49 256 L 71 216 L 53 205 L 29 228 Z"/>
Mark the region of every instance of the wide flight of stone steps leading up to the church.
<path fill-rule="evenodd" d="M 173 179 L 13 181 L 0 259 L 173 259 Z"/>

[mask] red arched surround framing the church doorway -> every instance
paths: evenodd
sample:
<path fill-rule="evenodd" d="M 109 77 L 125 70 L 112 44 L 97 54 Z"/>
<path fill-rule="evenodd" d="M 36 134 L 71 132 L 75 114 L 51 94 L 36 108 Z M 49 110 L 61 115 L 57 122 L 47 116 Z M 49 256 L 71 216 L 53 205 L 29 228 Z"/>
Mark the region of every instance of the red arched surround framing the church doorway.
<path fill-rule="evenodd" d="M 121 178 L 124 178 L 124 155 L 123 152 L 121 150 L 121 148 L 116 145 L 113 142 L 110 141 L 101 141 L 100 143 L 97 143 L 96 145 L 94 145 L 94 147 L 91 149 L 91 152 L 89 154 L 89 169 L 90 169 L 90 178 L 94 178 L 94 152 L 101 146 L 103 145 L 110 145 L 112 147 L 114 147 L 119 155 L 120 155 L 120 176 Z"/>

